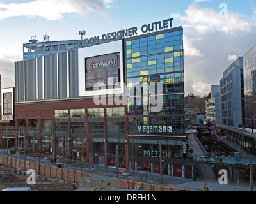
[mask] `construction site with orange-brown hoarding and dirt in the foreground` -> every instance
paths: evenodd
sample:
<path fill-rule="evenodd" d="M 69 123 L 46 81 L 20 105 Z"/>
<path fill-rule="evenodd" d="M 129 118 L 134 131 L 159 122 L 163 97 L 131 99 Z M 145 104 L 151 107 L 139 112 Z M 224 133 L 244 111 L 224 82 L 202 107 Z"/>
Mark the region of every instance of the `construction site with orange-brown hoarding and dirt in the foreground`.
<path fill-rule="evenodd" d="M 0 155 L 0 191 L 6 188 L 30 187 L 31 191 L 183 191 L 156 182 L 140 182 L 141 177 L 116 169 L 106 173 L 86 173 L 76 167 L 62 168 L 42 159 L 41 163 Z M 75 170 L 76 169 L 76 170 Z M 34 173 L 31 173 L 33 170 Z M 92 170 L 90 170 L 92 172 Z M 110 175 L 110 176 L 109 176 Z M 33 178 L 35 177 L 35 183 Z M 121 177 L 121 178 L 119 178 Z M 125 179 L 124 179 L 125 178 Z M 135 180 L 134 180 L 135 179 Z M 145 178 L 144 178 L 145 179 Z M 138 180 L 138 181 L 136 181 Z"/>

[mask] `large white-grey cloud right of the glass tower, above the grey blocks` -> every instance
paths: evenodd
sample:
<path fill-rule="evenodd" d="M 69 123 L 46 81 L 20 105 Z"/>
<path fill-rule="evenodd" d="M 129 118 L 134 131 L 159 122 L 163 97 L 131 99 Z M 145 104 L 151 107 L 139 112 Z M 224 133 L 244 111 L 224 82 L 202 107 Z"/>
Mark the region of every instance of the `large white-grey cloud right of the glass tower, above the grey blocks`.
<path fill-rule="evenodd" d="M 183 22 L 186 93 L 204 96 L 211 92 L 211 85 L 219 84 L 230 61 L 256 43 L 255 24 L 246 22 L 239 13 L 228 11 L 223 18 L 218 12 L 191 4 L 185 15 L 171 14 Z"/>

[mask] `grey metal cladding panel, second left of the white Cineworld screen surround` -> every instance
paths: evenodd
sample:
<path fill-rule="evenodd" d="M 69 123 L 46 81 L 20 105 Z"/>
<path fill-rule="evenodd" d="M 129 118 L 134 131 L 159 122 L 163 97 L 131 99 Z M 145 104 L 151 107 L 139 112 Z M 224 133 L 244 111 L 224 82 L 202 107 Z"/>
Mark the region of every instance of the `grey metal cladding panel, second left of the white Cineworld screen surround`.
<path fill-rule="evenodd" d="M 67 98 L 67 52 L 58 54 L 59 98 Z"/>

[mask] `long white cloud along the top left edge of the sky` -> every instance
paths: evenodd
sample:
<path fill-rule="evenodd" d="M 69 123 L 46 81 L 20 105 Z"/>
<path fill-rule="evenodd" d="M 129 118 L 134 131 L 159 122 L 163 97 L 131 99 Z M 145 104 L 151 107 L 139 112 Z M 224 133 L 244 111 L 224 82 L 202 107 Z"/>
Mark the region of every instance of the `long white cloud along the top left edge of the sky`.
<path fill-rule="evenodd" d="M 105 15 L 113 0 L 36 0 L 29 3 L 0 3 L 0 20 L 10 17 L 42 17 L 47 20 L 60 20 L 68 13 L 88 15 L 94 11 Z"/>

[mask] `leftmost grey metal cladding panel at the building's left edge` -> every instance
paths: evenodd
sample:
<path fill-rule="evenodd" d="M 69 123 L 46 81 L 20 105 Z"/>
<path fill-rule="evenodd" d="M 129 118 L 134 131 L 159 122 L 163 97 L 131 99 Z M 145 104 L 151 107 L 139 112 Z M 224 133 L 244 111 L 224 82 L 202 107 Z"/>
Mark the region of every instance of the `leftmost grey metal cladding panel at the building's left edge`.
<path fill-rule="evenodd" d="M 17 62 L 17 101 L 24 101 L 24 66 L 23 61 Z"/>

